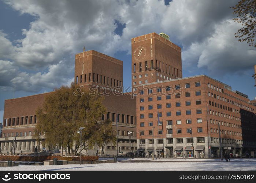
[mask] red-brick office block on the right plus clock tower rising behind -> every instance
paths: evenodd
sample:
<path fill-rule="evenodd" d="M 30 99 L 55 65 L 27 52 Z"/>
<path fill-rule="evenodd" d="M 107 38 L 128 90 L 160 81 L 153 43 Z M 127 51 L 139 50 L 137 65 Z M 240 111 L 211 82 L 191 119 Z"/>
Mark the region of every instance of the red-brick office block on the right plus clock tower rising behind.
<path fill-rule="evenodd" d="M 154 144 L 157 156 L 219 157 L 220 138 L 223 153 L 255 151 L 256 108 L 248 96 L 206 75 L 182 78 L 181 49 L 168 37 L 131 42 L 140 154 L 151 156 Z"/>

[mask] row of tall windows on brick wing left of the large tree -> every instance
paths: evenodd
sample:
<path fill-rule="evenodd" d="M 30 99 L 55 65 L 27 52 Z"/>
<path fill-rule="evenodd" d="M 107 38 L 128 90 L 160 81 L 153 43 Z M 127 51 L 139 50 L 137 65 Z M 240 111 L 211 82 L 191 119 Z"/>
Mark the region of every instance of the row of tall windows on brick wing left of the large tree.
<path fill-rule="evenodd" d="M 25 117 L 14 117 L 9 119 L 4 119 L 4 126 L 15 126 L 23 124 L 34 124 L 37 122 L 37 116 L 25 116 Z"/>

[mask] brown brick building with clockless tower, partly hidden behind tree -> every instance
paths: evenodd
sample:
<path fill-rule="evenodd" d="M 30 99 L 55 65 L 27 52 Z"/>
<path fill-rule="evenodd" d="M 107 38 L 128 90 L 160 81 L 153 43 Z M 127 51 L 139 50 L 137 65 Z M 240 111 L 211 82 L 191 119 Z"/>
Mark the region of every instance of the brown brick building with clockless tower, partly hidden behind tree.
<path fill-rule="evenodd" d="M 111 143 L 107 144 L 104 154 L 114 155 L 117 151 L 116 148 L 119 152 L 129 152 L 130 144 L 127 134 L 129 131 L 133 131 L 131 134 L 132 150 L 136 151 L 137 148 L 135 137 L 136 97 L 131 97 L 129 93 L 122 93 L 122 81 L 122 61 L 94 50 L 83 51 L 75 55 L 75 82 L 88 90 L 94 87 L 107 93 L 103 101 L 107 113 L 103 119 L 112 120 L 114 131 L 118 124 L 118 147 Z M 117 93 L 119 95 L 116 95 Z M 122 94 L 120 95 L 120 93 Z M 0 138 L 3 154 L 11 154 L 15 135 L 15 153 L 34 152 L 36 146 L 38 152 L 42 152 L 44 147 L 41 142 L 36 141 L 34 129 L 37 124 L 36 109 L 43 104 L 47 94 L 5 100 L 3 131 Z M 60 147 L 56 147 L 56 149 L 58 152 Z M 97 150 L 99 149 L 95 147 L 94 150 L 83 153 L 96 154 Z"/>

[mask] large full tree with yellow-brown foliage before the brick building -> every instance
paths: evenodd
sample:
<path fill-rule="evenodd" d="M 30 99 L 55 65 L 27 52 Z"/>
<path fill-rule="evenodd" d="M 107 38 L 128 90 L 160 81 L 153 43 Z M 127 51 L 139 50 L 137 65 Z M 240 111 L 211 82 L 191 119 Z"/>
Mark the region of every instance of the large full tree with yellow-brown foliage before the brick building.
<path fill-rule="evenodd" d="M 103 96 L 89 94 L 88 90 L 81 89 L 74 83 L 70 87 L 62 86 L 45 96 L 44 104 L 37 109 L 38 124 L 35 134 L 38 140 L 44 135 L 48 146 L 61 145 L 67 147 L 68 154 L 77 156 L 82 149 L 101 146 L 104 143 L 115 143 L 112 132 L 112 122 L 101 120 L 106 109 L 102 104 Z M 82 142 L 77 133 L 82 130 Z"/>

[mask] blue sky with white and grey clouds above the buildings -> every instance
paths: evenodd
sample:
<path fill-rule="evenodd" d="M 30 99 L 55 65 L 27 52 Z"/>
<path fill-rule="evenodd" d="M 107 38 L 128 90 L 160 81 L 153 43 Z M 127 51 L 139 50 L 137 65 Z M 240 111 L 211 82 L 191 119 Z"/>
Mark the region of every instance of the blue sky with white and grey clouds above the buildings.
<path fill-rule="evenodd" d="M 0 122 L 4 100 L 74 81 L 85 46 L 123 61 L 131 86 L 131 38 L 164 32 L 182 48 L 183 77 L 205 74 L 256 96 L 256 51 L 234 33 L 237 0 L 0 0 Z"/>

